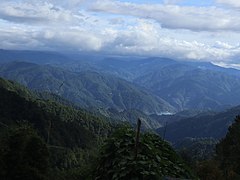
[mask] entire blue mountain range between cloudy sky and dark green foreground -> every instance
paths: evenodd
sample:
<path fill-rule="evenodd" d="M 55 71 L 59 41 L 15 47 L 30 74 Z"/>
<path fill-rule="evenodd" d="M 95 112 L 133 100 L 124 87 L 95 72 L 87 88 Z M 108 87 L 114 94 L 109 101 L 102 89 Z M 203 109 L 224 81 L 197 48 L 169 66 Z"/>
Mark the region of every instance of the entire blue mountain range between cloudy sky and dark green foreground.
<path fill-rule="evenodd" d="M 231 107 L 240 104 L 240 71 L 211 63 L 10 50 L 0 51 L 0 62 L 0 76 L 94 113 L 132 124 L 142 117 L 160 134 L 168 122 L 166 138 L 174 142 L 219 139 L 239 113 Z"/>

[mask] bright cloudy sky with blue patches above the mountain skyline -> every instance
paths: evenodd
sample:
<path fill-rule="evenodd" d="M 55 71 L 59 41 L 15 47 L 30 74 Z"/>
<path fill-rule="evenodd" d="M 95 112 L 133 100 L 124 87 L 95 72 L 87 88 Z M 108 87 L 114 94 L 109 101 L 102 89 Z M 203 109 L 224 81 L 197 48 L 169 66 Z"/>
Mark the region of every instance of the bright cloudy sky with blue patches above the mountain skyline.
<path fill-rule="evenodd" d="M 0 48 L 240 68 L 239 0 L 1 0 Z"/>

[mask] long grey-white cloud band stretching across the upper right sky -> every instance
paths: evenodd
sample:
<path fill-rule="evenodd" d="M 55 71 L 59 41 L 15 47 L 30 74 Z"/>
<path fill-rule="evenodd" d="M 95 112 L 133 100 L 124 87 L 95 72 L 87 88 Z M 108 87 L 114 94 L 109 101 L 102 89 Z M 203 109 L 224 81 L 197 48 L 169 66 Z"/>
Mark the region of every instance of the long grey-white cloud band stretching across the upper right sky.
<path fill-rule="evenodd" d="M 168 29 L 192 31 L 240 31 L 240 13 L 214 6 L 193 7 L 163 4 L 134 4 L 99 0 L 91 10 L 156 20 Z"/>

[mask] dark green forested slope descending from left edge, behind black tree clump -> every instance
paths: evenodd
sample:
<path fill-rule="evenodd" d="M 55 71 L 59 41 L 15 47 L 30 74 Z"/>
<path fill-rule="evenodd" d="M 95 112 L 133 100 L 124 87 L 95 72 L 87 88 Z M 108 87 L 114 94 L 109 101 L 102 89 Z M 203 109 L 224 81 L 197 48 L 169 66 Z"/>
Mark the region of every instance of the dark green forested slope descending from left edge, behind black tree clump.
<path fill-rule="evenodd" d="M 22 126 L 32 127 L 43 139 L 50 153 L 50 168 L 61 170 L 55 172 L 61 173 L 61 176 L 69 169 L 88 165 L 90 159 L 96 156 L 95 151 L 103 139 L 112 130 L 112 125 L 105 119 L 52 100 L 39 99 L 19 84 L 0 78 L 1 137 L 6 139 L 2 133 L 11 132 L 12 127 Z M 23 132 L 19 131 L 24 137 L 25 132 L 29 134 L 24 128 Z M 25 139 L 14 141 L 25 143 Z"/>

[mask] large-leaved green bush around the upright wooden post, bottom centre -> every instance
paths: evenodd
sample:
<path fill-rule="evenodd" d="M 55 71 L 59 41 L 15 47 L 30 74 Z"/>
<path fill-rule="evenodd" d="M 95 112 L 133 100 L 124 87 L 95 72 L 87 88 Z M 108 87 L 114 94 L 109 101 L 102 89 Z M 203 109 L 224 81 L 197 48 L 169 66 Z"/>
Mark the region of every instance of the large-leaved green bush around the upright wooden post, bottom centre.
<path fill-rule="evenodd" d="M 119 128 L 105 143 L 96 179 L 192 178 L 191 171 L 171 146 L 155 134 L 141 134 L 135 157 L 135 132 Z"/>

